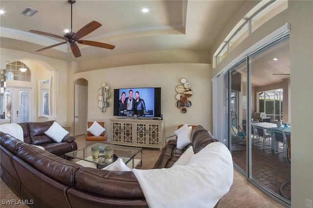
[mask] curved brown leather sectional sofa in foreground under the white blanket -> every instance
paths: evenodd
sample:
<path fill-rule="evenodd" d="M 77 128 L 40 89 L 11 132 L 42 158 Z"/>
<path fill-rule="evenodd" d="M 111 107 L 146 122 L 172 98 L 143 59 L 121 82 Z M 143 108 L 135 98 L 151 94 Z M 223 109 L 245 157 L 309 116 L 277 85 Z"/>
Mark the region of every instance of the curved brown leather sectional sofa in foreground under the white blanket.
<path fill-rule="evenodd" d="M 195 153 L 217 141 L 202 127 L 192 133 Z M 132 171 L 85 168 L 0 132 L 1 179 L 35 208 L 147 208 Z M 155 168 L 169 168 L 184 150 L 166 146 Z M 217 206 L 216 206 L 217 207 Z"/>

